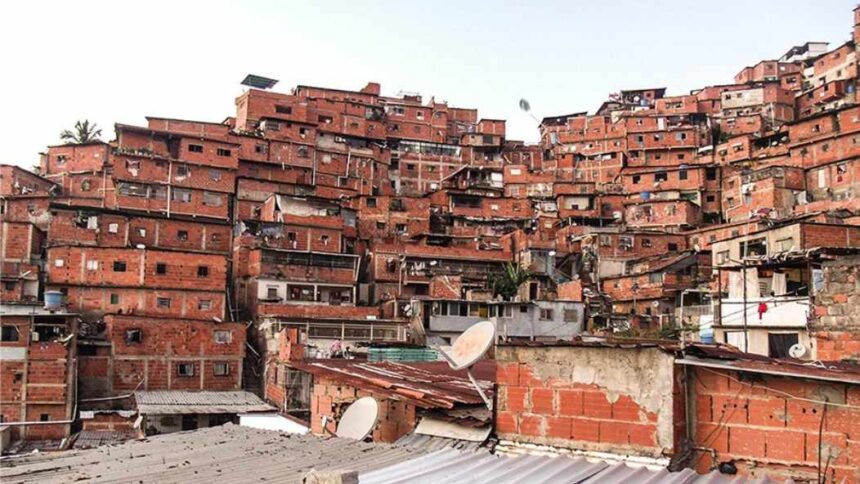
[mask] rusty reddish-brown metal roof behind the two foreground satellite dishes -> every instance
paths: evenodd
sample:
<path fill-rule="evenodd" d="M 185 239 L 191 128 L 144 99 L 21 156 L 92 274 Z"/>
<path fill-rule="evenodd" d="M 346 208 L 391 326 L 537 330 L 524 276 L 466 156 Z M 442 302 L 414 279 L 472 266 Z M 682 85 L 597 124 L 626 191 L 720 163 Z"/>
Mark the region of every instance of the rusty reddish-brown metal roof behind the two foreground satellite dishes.
<path fill-rule="evenodd" d="M 483 405 L 465 370 L 452 370 L 447 363 L 357 360 L 304 360 L 291 363 L 316 377 L 373 391 L 425 409 L 450 409 L 456 405 Z M 485 392 L 492 392 L 495 364 L 484 360 L 474 367 L 475 378 Z"/>

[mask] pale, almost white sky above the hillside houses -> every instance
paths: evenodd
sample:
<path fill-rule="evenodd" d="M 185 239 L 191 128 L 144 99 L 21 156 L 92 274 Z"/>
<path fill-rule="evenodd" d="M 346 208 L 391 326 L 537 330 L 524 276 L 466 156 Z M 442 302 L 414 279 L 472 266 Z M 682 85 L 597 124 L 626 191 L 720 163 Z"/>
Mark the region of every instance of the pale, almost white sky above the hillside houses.
<path fill-rule="evenodd" d="M 0 163 L 38 164 L 90 119 L 220 122 L 248 73 L 478 108 L 536 141 L 538 119 L 620 89 L 684 94 L 808 40 L 847 41 L 854 0 L 28 1 L 0 6 Z"/>

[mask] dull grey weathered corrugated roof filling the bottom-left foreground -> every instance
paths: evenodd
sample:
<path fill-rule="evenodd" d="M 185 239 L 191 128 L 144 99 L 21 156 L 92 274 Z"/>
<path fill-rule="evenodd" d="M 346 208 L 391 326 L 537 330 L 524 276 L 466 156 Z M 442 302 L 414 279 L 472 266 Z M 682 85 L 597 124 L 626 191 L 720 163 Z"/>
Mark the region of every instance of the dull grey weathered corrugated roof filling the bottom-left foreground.
<path fill-rule="evenodd" d="M 420 449 L 292 435 L 227 424 L 97 449 L 0 461 L 0 482 L 300 483 L 311 469 L 359 472 L 408 461 Z"/>

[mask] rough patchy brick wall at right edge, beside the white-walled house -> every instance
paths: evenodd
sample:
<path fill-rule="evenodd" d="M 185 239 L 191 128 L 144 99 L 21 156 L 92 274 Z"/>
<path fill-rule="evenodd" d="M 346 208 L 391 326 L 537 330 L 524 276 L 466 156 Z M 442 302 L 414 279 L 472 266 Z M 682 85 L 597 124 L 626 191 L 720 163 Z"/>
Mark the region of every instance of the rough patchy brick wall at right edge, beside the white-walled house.
<path fill-rule="evenodd" d="M 824 287 L 815 296 L 815 359 L 860 357 L 860 257 L 823 265 Z"/>

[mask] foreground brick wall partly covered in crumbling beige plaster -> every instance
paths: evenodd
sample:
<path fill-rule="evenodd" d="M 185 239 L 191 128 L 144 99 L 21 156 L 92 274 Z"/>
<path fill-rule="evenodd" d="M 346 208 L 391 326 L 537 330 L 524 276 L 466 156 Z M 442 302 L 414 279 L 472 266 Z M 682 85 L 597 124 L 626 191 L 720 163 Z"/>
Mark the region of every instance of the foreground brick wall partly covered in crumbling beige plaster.
<path fill-rule="evenodd" d="M 672 355 L 657 348 L 499 346 L 502 439 L 650 457 L 671 454 L 683 411 Z M 681 406 L 683 409 L 683 406 Z"/>

